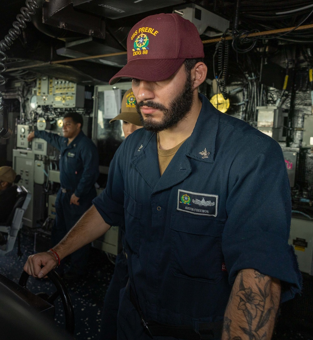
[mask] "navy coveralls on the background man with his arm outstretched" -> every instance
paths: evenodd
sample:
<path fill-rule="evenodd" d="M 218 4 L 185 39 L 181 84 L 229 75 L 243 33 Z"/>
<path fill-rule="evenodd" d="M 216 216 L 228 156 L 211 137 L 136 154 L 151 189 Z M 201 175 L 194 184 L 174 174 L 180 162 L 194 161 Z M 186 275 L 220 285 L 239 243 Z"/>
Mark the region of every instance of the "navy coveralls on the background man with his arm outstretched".
<path fill-rule="evenodd" d="M 55 201 L 56 218 L 52 229 L 53 245 L 57 244 L 74 226 L 96 197 L 95 182 L 99 176 L 99 158 L 96 146 L 82 131 L 67 145 L 68 138 L 55 133 L 35 131 L 35 137 L 43 138 L 60 150 L 60 182 Z M 71 195 L 79 197 L 78 203 L 70 204 Z M 81 275 L 86 271 L 89 245 L 71 254 L 70 271 Z"/>

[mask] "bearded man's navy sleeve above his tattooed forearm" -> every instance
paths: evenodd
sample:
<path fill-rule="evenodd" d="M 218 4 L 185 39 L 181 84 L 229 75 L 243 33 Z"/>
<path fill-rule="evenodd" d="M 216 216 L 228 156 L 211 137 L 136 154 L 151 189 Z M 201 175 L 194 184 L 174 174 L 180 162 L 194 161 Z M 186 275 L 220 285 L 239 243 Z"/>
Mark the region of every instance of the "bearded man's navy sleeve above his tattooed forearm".
<path fill-rule="evenodd" d="M 281 280 L 281 302 L 291 299 L 301 291 L 302 276 L 288 244 L 291 195 L 279 144 L 260 138 L 239 154 L 228 188 L 222 249 L 229 283 L 239 270 L 253 268 Z"/>

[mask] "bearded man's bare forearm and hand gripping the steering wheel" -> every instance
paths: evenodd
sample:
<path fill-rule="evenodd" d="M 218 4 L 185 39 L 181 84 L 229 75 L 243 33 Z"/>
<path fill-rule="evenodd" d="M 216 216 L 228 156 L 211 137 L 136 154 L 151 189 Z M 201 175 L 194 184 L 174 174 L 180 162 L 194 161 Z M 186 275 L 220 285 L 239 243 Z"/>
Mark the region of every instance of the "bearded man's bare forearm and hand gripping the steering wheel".
<path fill-rule="evenodd" d="M 106 233 L 109 228 L 110 225 L 103 220 L 97 209 L 91 206 L 53 249 L 59 255 L 60 260 L 62 260 L 75 250 Z M 29 256 L 25 263 L 24 271 L 29 275 L 41 278 L 46 276 L 56 266 L 55 256 L 44 252 Z"/>

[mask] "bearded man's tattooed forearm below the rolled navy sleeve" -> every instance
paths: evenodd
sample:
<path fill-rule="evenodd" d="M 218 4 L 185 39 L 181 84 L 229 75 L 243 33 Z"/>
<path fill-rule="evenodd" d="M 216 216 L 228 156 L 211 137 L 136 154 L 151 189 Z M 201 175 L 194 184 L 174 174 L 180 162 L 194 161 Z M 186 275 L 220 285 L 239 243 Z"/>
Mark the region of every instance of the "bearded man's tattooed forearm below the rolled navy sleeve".
<path fill-rule="evenodd" d="M 222 340 L 270 340 L 280 281 L 254 269 L 239 271 L 224 315 Z"/>

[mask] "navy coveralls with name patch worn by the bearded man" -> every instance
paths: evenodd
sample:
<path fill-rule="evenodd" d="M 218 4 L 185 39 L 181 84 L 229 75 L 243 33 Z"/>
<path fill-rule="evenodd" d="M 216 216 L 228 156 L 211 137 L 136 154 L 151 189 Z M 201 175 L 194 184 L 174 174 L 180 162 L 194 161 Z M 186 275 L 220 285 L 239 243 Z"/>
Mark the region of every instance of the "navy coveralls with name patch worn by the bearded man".
<path fill-rule="evenodd" d="M 130 285 L 120 295 L 119 340 L 150 339 L 130 301 L 134 292 L 145 321 L 199 331 L 223 320 L 241 269 L 281 280 L 281 302 L 301 288 L 288 245 L 291 197 L 279 144 L 199 97 L 194 131 L 162 176 L 155 134 L 136 130 L 93 200 L 109 225 L 119 224 L 124 209 Z"/>

